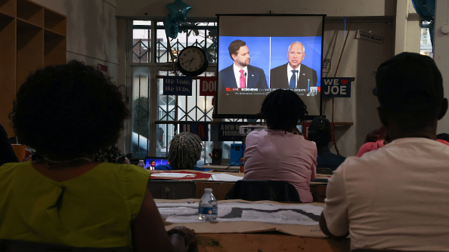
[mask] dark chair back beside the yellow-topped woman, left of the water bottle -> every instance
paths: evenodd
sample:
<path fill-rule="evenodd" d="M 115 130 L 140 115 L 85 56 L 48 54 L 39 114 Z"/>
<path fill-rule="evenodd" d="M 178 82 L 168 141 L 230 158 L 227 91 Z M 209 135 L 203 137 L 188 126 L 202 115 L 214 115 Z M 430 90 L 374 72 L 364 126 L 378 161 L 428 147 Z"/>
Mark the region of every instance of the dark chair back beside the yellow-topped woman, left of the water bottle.
<path fill-rule="evenodd" d="M 192 181 L 150 179 L 147 187 L 153 199 L 195 199 L 197 193 Z"/>

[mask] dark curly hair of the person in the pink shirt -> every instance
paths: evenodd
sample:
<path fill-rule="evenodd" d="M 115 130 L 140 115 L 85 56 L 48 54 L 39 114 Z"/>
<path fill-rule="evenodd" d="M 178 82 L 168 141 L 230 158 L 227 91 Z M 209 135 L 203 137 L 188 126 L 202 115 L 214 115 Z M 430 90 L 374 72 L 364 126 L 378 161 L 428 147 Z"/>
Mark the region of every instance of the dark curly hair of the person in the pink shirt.
<path fill-rule="evenodd" d="M 304 122 L 307 106 L 291 90 L 277 89 L 269 93 L 260 109 L 267 126 L 272 130 L 291 132 L 298 122 Z"/>

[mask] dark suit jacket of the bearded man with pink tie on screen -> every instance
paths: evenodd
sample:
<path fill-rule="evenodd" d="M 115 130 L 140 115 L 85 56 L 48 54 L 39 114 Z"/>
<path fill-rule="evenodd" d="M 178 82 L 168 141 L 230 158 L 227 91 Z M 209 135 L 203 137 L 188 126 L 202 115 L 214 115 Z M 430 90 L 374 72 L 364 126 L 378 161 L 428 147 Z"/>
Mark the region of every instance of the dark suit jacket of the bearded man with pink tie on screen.
<path fill-rule="evenodd" d="M 268 88 L 267 78 L 265 78 L 264 70 L 252 65 L 248 65 L 247 88 Z M 218 88 L 225 90 L 226 88 L 237 88 L 233 65 L 224 68 L 218 74 Z"/>

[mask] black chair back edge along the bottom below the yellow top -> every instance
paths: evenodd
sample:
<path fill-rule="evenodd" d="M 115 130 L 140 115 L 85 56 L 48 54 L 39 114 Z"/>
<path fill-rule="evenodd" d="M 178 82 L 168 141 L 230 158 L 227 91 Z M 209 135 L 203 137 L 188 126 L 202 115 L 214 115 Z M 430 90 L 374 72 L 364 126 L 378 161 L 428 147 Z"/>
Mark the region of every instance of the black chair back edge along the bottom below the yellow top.
<path fill-rule="evenodd" d="M 128 248 L 81 248 L 31 241 L 0 241 L 0 252 L 126 252 Z"/>

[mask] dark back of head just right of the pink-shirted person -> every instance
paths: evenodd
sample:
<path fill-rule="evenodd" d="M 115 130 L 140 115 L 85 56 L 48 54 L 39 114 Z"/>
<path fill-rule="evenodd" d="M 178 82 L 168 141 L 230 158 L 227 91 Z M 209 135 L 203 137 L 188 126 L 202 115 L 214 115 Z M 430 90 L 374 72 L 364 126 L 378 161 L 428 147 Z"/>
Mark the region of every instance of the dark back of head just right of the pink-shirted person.
<path fill-rule="evenodd" d="M 317 147 L 327 147 L 332 139 L 331 122 L 324 117 L 315 117 L 309 125 L 308 137 Z"/>

